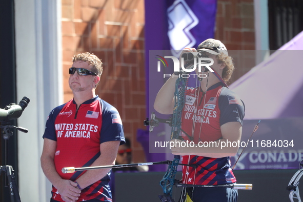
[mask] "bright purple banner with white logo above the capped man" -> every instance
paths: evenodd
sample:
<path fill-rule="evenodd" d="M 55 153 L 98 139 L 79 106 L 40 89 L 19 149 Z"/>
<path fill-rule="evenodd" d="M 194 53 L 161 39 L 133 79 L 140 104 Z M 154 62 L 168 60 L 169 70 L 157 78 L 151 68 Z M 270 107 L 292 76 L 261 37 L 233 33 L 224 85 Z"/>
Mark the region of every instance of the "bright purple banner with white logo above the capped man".
<path fill-rule="evenodd" d="M 173 55 L 213 38 L 216 0 L 175 0 L 167 9 L 168 36 Z"/>

